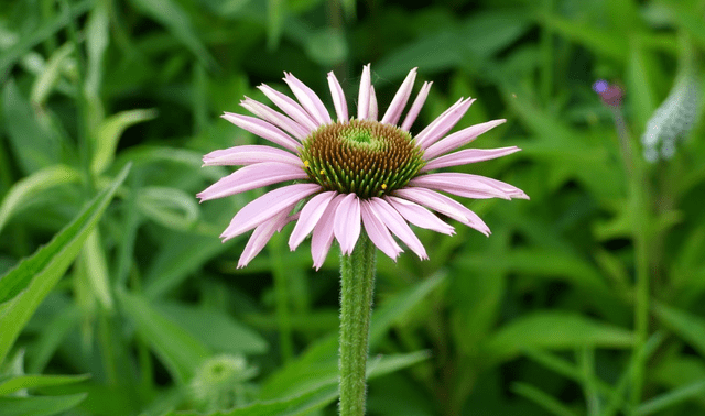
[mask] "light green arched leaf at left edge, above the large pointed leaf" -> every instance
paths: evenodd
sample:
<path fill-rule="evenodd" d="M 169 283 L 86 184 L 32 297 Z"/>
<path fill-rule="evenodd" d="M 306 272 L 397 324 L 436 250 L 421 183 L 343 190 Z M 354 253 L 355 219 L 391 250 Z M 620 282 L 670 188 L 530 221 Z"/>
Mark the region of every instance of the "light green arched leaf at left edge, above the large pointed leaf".
<path fill-rule="evenodd" d="M 31 200 L 45 189 L 76 182 L 79 178 L 80 175 L 76 169 L 64 165 L 55 165 L 45 167 L 18 180 L 0 204 L 0 231 L 24 201 Z"/>

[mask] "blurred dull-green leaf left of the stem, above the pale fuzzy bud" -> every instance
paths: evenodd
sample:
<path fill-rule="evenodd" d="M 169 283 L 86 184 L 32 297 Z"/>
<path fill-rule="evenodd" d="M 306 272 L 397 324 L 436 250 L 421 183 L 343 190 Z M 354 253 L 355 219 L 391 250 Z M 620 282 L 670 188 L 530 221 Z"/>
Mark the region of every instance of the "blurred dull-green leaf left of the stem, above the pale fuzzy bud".
<path fill-rule="evenodd" d="M 161 304 L 156 308 L 215 351 L 261 354 L 269 349 L 259 333 L 220 311 L 177 303 Z"/>

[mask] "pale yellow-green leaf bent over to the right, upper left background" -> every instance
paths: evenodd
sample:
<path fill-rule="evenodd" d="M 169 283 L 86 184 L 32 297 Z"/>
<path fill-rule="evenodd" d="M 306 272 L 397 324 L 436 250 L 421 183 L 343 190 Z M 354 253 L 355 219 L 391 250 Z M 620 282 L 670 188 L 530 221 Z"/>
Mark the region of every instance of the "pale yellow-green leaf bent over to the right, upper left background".
<path fill-rule="evenodd" d="M 115 158 L 118 141 L 122 132 L 130 125 L 156 117 L 156 110 L 129 110 L 108 117 L 98 127 L 98 134 L 94 143 L 94 155 L 90 162 L 90 171 L 94 174 L 102 173 L 110 166 Z"/>

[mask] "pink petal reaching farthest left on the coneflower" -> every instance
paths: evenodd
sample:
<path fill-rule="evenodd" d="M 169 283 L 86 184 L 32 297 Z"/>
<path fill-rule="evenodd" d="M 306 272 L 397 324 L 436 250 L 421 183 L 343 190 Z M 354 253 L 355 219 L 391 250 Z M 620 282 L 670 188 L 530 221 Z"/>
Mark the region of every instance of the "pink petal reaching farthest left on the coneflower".
<path fill-rule="evenodd" d="M 308 174 L 286 163 L 263 162 L 245 166 L 197 194 L 200 201 L 223 198 L 284 180 L 305 179 Z"/>

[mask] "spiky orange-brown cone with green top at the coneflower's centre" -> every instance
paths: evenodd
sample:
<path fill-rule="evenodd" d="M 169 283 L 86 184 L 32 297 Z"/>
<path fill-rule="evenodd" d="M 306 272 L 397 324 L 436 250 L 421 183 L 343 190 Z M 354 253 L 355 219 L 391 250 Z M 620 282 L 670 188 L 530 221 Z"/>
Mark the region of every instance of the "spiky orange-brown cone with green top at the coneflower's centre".
<path fill-rule="evenodd" d="M 404 187 L 425 164 L 409 132 L 391 124 L 350 120 L 318 128 L 303 141 L 301 160 L 326 190 L 380 197 Z"/>

